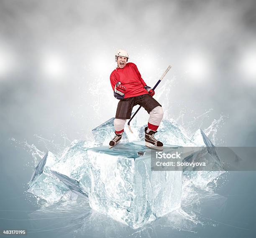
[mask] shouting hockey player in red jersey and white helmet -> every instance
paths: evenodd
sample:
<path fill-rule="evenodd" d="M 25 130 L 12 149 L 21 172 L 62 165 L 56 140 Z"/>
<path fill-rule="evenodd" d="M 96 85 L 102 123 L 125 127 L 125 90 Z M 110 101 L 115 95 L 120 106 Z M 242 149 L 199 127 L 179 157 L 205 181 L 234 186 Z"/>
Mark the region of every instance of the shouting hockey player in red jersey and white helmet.
<path fill-rule="evenodd" d="M 118 50 L 115 55 L 118 66 L 110 75 L 114 96 L 120 101 L 114 120 L 115 137 L 110 141 L 109 148 L 121 140 L 126 119 L 131 118 L 133 107 L 141 105 L 149 113 L 148 126 L 145 128 L 146 146 L 162 150 L 163 143 L 154 138 L 163 118 L 162 106 L 152 98 L 155 94 L 154 90 L 141 78 L 137 66 L 134 63 L 127 63 L 128 59 L 125 50 Z"/>

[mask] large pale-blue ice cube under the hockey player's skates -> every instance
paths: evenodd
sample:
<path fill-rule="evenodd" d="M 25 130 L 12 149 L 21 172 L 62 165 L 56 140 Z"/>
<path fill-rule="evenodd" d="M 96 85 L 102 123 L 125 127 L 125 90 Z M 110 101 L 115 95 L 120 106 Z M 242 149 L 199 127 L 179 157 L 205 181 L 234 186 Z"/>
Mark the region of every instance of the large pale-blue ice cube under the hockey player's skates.
<path fill-rule="evenodd" d="M 91 148 L 87 153 L 93 209 L 138 228 L 179 208 L 182 171 L 151 171 L 151 150 L 141 142 Z"/>

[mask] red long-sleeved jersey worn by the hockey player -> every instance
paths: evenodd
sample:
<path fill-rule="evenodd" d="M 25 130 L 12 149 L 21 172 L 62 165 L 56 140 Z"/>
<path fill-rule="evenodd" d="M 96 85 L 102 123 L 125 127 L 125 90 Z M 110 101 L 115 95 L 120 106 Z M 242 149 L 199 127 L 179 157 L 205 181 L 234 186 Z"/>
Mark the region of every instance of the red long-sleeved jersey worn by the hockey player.
<path fill-rule="evenodd" d="M 115 85 L 119 81 L 126 88 L 124 98 L 131 98 L 148 93 L 144 88 L 146 83 L 141 78 L 141 74 L 134 63 L 127 63 L 125 67 L 113 70 L 110 75 L 110 83 L 113 90 L 115 90 Z"/>

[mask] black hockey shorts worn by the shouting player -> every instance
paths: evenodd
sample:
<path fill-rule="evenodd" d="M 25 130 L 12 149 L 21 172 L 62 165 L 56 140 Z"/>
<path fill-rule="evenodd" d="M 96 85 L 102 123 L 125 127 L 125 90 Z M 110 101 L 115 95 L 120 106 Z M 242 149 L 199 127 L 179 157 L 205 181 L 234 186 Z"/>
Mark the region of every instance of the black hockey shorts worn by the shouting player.
<path fill-rule="evenodd" d="M 136 105 L 142 106 L 148 113 L 150 113 L 157 106 L 161 106 L 156 99 L 149 94 L 143 94 L 136 97 L 121 99 L 118 103 L 115 118 L 130 119 L 133 107 Z"/>

